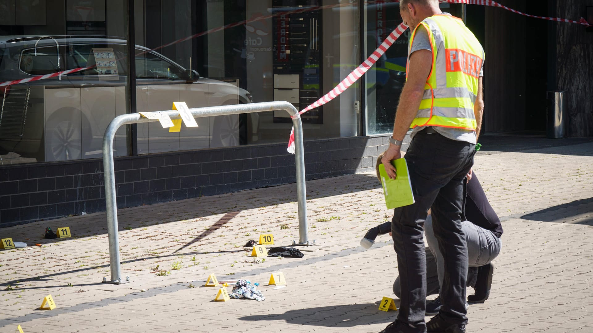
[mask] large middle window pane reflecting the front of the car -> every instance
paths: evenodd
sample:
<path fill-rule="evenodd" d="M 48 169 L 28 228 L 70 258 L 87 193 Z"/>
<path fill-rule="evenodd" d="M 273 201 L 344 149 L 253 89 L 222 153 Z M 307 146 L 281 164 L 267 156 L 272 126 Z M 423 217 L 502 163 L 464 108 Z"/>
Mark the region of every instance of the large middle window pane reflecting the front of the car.
<path fill-rule="evenodd" d="M 146 27 L 144 46 L 158 48 L 157 52 L 185 68 L 191 65 L 200 77 L 192 84 L 170 86 L 168 92 L 161 88 L 139 91 L 138 107 L 162 110 L 180 98 L 190 107 L 282 100 L 302 110 L 361 61 L 359 7 L 355 2 L 342 2 L 184 0 L 165 6 L 163 1 L 147 0 L 145 17 L 154 24 Z M 160 28 L 173 13 L 177 15 L 173 27 Z M 201 34 L 219 27 L 225 28 Z M 197 37 L 183 40 L 192 34 Z M 171 45 L 160 48 L 165 44 Z M 354 105 L 361 100 L 360 93 L 356 85 L 331 103 L 305 113 L 305 139 L 358 135 L 360 115 Z M 151 103 L 156 100 L 154 94 L 162 105 Z M 285 142 L 291 128 L 283 111 L 197 122 L 197 130 L 182 129 L 181 133 L 164 133 L 158 124 L 139 126 L 139 151 Z"/>

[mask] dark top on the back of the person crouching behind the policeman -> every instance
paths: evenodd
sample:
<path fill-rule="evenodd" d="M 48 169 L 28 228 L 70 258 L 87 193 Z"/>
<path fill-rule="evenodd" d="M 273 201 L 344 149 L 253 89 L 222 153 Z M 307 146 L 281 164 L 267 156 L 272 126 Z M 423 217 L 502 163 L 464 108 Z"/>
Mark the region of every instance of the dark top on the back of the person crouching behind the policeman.
<path fill-rule="evenodd" d="M 476 172 L 472 173 L 471 180 L 467 182 L 464 213 L 466 219 L 474 223 L 474 225 L 497 233 L 499 238 L 502 235 L 502 223 L 500 223 L 498 215 L 490 206 Z"/>

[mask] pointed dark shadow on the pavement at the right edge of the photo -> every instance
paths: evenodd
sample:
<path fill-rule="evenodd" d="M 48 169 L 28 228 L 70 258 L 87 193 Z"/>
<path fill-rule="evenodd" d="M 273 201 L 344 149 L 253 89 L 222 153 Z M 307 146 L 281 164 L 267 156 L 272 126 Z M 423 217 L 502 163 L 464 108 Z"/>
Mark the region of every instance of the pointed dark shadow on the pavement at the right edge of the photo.
<path fill-rule="evenodd" d="M 593 197 L 538 210 L 521 219 L 593 226 Z"/>

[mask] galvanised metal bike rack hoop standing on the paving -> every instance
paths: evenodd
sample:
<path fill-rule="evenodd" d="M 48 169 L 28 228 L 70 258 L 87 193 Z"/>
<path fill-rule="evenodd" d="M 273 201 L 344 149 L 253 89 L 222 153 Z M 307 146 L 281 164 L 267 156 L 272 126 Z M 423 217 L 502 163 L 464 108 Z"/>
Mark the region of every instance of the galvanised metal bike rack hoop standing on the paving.
<path fill-rule="evenodd" d="M 231 114 L 254 113 L 264 111 L 285 110 L 291 115 L 295 135 L 295 165 L 297 167 L 297 202 L 299 221 L 299 243 L 293 245 L 310 245 L 307 235 L 307 191 L 305 190 L 305 152 L 302 140 L 302 122 L 298 110 L 291 103 L 285 101 L 252 103 L 240 105 L 224 105 L 219 107 L 190 108 L 194 118 L 228 116 Z M 171 119 L 181 119 L 179 111 L 162 111 Z M 105 175 L 105 200 L 107 201 L 107 232 L 109 234 L 109 262 L 111 268 L 111 281 L 103 278 L 103 282 L 126 283 L 129 278 L 122 280 L 119 235 L 117 227 L 117 200 L 115 190 L 115 171 L 113 163 L 113 139 L 119 127 L 127 124 L 151 123 L 157 119 L 142 117 L 139 113 L 122 114 L 115 117 L 107 126 L 103 136 L 103 170 Z"/>

